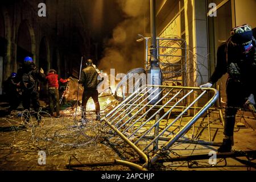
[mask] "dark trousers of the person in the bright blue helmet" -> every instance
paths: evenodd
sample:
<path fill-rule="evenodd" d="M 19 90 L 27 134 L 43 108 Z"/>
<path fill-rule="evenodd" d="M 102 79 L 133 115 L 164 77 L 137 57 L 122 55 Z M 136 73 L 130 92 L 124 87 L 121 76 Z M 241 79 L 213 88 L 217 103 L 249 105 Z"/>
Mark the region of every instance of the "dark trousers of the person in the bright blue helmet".
<path fill-rule="evenodd" d="M 39 93 L 36 91 L 29 92 L 29 93 L 23 93 L 22 95 L 22 105 L 24 109 L 30 110 L 30 105 L 32 103 L 33 109 L 35 112 L 39 111 L 40 104 L 39 104 Z M 40 121 L 41 117 L 39 114 L 35 114 L 36 120 Z"/>

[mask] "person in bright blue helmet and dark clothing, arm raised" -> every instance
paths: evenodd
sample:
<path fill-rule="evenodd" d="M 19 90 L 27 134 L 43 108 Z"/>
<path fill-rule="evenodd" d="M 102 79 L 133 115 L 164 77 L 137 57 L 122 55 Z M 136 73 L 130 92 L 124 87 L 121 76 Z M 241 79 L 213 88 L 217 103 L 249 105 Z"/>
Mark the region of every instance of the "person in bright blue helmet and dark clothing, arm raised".
<path fill-rule="evenodd" d="M 35 112 L 39 111 L 39 81 L 45 81 L 44 71 L 36 68 L 32 57 L 25 57 L 22 68 L 18 70 L 20 86 L 22 88 L 22 104 L 24 109 L 30 110 L 30 104 L 34 107 Z M 40 115 L 35 114 L 36 121 L 41 121 Z M 27 118 L 27 122 L 29 118 Z"/>

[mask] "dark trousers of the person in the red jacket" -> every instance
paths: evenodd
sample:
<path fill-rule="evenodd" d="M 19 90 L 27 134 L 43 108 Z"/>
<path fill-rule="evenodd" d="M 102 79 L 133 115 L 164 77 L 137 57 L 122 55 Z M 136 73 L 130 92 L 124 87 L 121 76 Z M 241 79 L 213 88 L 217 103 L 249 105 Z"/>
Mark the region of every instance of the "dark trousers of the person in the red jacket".
<path fill-rule="evenodd" d="M 53 115 L 54 107 L 56 106 L 56 115 L 60 115 L 60 98 L 57 88 L 49 89 L 49 102 L 50 114 Z"/>

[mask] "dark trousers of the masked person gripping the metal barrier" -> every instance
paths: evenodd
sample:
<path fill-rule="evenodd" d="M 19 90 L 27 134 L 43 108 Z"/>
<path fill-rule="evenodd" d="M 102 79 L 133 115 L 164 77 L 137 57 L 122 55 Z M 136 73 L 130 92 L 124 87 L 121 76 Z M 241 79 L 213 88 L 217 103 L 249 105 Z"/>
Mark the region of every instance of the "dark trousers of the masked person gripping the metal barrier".
<path fill-rule="evenodd" d="M 246 88 L 241 82 L 229 78 L 226 84 L 227 107 L 225 109 L 224 135 L 232 137 L 238 107 L 243 107 L 246 98 L 249 97 L 250 89 Z"/>

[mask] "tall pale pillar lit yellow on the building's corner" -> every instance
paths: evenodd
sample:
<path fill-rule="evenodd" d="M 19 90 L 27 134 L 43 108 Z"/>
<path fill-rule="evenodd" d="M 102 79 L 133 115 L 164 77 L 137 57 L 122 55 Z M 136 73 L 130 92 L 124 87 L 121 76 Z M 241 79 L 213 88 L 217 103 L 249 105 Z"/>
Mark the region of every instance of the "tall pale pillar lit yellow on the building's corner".
<path fill-rule="evenodd" d="M 207 10 L 205 1 L 184 0 L 188 43 L 188 86 L 208 81 Z"/>

